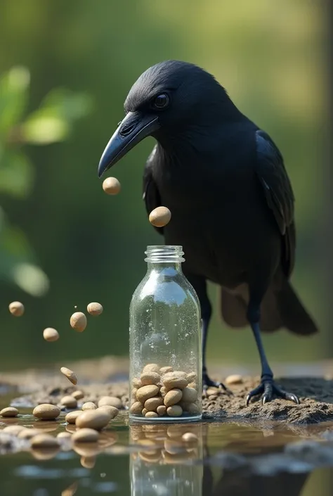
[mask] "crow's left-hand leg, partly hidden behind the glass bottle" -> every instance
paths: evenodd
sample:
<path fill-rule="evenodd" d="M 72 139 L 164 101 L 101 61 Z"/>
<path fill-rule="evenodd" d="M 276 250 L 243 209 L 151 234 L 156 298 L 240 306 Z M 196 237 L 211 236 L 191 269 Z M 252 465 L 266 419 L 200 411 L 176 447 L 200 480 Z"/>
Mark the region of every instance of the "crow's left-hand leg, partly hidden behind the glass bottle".
<path fill-rule="evenodd" d="M 209 388 L 209 386 L 213 386 L 214 388 L 222 388 L 227 393 L 231 393 L 231 391 L 224 386 L 221 382 L 212 381 L 207 374 L 206 367 L 206 345 L 207 345 L 207 336 L 208 336 L 208 327 L 211 319 L 211 303 L 209 301 L 207 295 L 207 282 L 206 279 L 202 276 L 195 276 L 192 274 L 186 274 L 188 281 L 192 284 L 193 288 L 195 288 L 195 292 L 197 293 L 197 297 L 200 301 L 201 307 L 201 318 L 202 318 L 202 388 L 204 392 Z"/>

